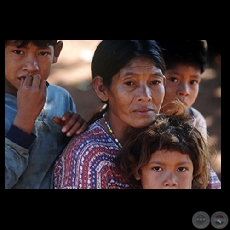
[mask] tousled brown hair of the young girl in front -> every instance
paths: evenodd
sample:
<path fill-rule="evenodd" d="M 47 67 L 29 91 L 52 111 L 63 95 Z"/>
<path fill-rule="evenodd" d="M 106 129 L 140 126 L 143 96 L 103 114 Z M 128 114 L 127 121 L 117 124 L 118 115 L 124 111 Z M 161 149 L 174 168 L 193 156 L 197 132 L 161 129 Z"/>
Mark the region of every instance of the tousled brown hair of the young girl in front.
<path fill-rule="evenodd" d="M 193 118 L 185 112 L 185 108 L 177 111 L 180 113 L 157 115 L 152 124 L 144 128 L 127 129 L 125 144 L 115 159 L 115 166 L 133 188 L 142 188 L 141 181 L 136 180 L 134 175 L 149 162 L 151 154 L 162 149 L 189 155 L 194 167 L 193 189 L 208 185 L 211 146 L 194 126 Z"/>

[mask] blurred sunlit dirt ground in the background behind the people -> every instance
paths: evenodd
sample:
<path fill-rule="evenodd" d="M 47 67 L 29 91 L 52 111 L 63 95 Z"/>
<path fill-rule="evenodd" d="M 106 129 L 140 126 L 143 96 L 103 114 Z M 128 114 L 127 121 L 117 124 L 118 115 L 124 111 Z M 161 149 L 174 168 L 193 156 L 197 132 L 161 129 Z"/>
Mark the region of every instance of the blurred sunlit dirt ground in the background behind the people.
<path fill-rule="evenodd" d="M 90 62 L 101 40 L 63 40 L 64 47 L 58 63 L 54 64 L 48 81 L 66 88 L 86 120 L 101 105 L 90 86 Z M 205 117 L 209 141 L 217 149 L 213 168 L 221 180 L 221 54 L 210 47 L 209 63 L 202 76 L 199 96 L 194 104 Z"/>

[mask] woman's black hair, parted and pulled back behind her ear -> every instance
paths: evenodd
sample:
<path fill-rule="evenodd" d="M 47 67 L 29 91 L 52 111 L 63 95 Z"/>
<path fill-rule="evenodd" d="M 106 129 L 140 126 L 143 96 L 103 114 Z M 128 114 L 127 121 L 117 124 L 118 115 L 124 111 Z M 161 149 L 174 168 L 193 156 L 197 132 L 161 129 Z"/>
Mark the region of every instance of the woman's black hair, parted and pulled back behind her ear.
<path fill-rule="evenodd" d="M 103 84 L 110 87 L 112 78 L 122 68 L 124 68 L 132 59 L 145 57 L 154 63 L 154 65 L 165 73 L 165 63 L 162 57 L 161 49 L 154 40 L 103 40 L 97 46 L 92 63 L 92 78 L 100 76 L 103 78 Z M 108 109 L 104 107 L 97 112 L 88 121 L 89 124 L 102 117 L 102 114 Z"/>

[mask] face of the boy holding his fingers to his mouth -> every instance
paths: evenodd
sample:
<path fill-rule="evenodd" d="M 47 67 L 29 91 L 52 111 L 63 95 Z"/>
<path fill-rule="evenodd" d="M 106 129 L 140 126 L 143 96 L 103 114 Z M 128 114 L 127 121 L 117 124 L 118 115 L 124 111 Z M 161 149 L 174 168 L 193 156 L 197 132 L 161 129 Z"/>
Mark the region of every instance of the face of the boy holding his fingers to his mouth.
<path fill-rule="evenodd" d="M 29 43 L 25 47 L 17 48 L 20 41 L 9 40 L 5 46 L 5 92 L 17 92 L 20 82 L 34 74 L 41 75 L 46 80 L 50 74 L 51 64 L 57 62 L 57 57 L 62 49 L 57 45 L 38 47 Z M 55 53 L 55 56 L 54 56 Z"/>

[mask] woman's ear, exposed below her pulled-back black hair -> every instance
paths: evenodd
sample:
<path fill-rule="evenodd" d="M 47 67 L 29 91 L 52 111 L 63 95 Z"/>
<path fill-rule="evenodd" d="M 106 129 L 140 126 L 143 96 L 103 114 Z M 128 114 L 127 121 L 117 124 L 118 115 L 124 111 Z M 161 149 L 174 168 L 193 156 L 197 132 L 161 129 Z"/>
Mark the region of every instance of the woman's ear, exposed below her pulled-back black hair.
<path fill-rule="evenodd" d="M 101 99 L 102 102 L 108 101 L 108 87 L 103 83 L 103 78 L 96 76 L 93 78 L 93 88 L 97 96 Z"/>

